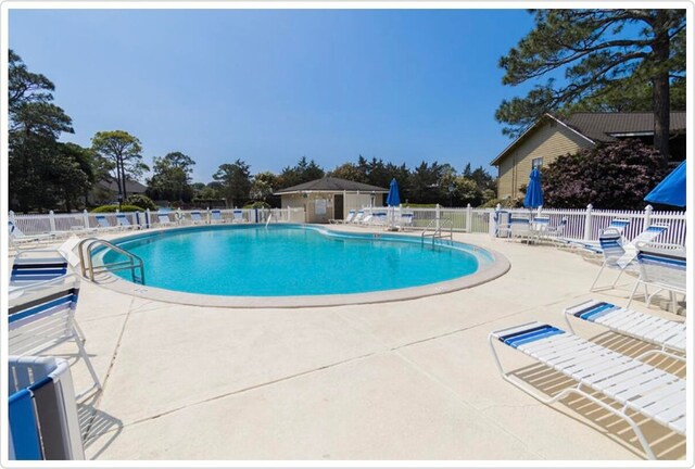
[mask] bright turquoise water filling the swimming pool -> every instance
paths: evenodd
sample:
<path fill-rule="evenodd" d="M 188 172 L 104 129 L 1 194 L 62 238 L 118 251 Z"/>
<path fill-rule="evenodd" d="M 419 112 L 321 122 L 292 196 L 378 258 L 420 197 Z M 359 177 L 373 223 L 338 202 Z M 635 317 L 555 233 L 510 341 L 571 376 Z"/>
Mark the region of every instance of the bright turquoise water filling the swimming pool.
<path fill-rule="evenodd" d="M 148 286 L 189 293 L 291 296 L 419 287 L 475 272 L 491 262 L 472 246 L 337 233 L 300 225 L 167 230 L 117 242 L 144 262 Z M 484 253 L 484 251 L 482 252 Z M 109 251 L 105 263 L 118 261 Z M 129 271 L 115 275 L 130 280 Z"/>

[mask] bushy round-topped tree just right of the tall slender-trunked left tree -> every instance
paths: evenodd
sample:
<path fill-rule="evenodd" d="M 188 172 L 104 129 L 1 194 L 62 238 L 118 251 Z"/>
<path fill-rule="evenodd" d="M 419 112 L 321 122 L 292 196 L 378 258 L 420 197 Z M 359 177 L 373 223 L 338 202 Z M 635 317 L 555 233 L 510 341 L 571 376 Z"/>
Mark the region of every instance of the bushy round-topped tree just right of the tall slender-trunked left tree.
<path fill-rule="evenodd" d="M 193 198 L 190 186 L 195 162 L 181 152 L 154 157 L 153 175 L 148 179 L 148 194 L 153 199 L 189 202 Z"/>

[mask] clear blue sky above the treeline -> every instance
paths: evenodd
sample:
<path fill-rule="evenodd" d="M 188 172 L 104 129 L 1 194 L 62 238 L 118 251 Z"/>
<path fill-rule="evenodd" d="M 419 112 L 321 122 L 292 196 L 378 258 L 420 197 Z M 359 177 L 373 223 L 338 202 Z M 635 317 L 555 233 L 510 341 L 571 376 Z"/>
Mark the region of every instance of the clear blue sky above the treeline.
<path fill-rule="evenodd" d="M 279 173 L 359 154 L 408 167 L 488 164 L 508 143 L 494 112 L 500 56 L 523 10 L 12 10 L 10 47 L 55 84 L 64 141 L 126 130 L 144 161 L 191 156 L 208 182 L 237 159 Z"/>

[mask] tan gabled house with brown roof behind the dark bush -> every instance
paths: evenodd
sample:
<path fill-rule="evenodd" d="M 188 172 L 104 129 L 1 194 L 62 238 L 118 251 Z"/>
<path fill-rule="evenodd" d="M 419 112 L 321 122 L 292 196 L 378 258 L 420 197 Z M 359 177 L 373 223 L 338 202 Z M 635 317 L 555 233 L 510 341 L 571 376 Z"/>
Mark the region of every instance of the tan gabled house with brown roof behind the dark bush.
<path fill-rule="evenodd" d="M 670 151 L 673 161 L 685 159 L 685 112 L 671 113 Z M 522 197 L 534 167 L 558 156 L 577 153 L 599 142 L 634 138 L 654 142 L 653 113 L 577 113 L 559 119 L 545 114 L 513 141 L 490 164 L 497 167 L 497 198 Z"/>

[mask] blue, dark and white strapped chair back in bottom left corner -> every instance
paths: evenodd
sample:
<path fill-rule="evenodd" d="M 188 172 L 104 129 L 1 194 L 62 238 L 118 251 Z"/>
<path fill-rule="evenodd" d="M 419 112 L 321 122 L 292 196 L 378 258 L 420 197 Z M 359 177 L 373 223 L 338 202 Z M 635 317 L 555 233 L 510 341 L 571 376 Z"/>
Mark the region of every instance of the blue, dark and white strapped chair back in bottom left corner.
<path fill-rule="evenodd" d="M 85 459 L 67 360 L 10 356 L 8 366 L 9 459 Z"/>

